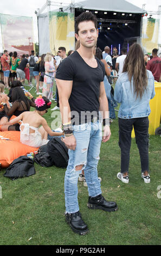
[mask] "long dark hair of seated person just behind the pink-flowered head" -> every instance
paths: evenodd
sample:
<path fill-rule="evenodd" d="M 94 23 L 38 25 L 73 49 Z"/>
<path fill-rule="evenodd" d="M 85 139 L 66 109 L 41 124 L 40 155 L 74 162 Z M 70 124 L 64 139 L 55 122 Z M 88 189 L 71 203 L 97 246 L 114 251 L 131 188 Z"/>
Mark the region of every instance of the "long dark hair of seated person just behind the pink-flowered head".
<path fill-rule="evenodd" d="M 27 110 L 29 111 L 30 104 L 28 98 L 25 96 L 23 89 L 21 87 L 16 87 L 12 90 L 12 102 L 14 101 L 23 101 L 25 103 L 25 106 L 27 107 Z"/>

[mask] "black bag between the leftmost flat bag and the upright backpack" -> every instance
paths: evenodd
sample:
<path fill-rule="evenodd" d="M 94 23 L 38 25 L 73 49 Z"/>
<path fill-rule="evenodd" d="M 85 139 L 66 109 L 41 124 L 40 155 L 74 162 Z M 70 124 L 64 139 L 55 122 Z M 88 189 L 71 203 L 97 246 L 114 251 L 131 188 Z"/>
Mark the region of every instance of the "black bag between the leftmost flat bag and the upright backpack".
<path fill-rule="evenodd" d="M 42 145 L 38 149 L 38 153 L 34 156 L 34 161 L 42 167 L 51 167 L 54 165 L 53 160 L 47 153 L 47 144 Z"/>

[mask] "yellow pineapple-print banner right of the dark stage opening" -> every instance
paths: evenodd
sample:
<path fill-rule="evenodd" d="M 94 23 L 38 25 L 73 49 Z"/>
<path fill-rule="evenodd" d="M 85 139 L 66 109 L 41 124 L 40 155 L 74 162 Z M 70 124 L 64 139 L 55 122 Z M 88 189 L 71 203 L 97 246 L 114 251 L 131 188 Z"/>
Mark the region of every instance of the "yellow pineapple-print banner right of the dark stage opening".
<path fill-rule="evenodd" d="M 159 20 L 143 19 L 142 46 L 145 52 L 151 54 L 153 48 L 158 48 Z"/>

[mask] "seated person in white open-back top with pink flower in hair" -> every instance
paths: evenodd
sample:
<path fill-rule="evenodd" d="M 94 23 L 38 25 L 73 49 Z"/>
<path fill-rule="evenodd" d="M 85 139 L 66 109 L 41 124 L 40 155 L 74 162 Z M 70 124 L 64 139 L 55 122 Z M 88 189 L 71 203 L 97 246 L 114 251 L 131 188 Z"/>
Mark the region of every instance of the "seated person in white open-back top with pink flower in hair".
<path fill-rule="evenodd" d="M 35 100 L 35 105 L 35 111 L 23 112 L 22 114 L 18 115 L 17 118 L 10 120 L 8 123 L 15 124 L 18 121 L 21 121 L 21 143 L 34 148 L 39 148 L 48 143 L 48 134 L 50 136 L 61 136 L 63 135 L 63 132 L 60 133 L 51 131 L 46 119 L 42 117 L 42 115 L 48 112 L 48 108 L 50 108 L 51 105 L 51 102 L 47 99 L 47 97 L 37 97 Z"/>

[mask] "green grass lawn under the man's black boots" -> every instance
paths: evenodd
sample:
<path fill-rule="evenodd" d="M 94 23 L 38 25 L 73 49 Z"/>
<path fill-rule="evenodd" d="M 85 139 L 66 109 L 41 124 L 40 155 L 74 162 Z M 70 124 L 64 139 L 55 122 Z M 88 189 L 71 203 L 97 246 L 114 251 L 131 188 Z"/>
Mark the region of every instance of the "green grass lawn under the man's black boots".
<path fill-rule="evenodd" d="M 36 96 L 34 91 L 31 93 Z M 53 102 L 51 108 L 56 105 Z M 44 117 L 50 126 L 51 111 Z M 161 245 L 161 198 L 157 197 L 157 187 L 161 185 L 161 137 L 150 136 L 150 184 L 144 184 L 140 177 L 139 153 L 132 139 L 130 181 L 123 184 L 117 179 L 118 118 L 113 120 L 111 131 L 110 141 L 101 145 L 98 173 L 102 194 L 117 202 L 118 211 L 89 210 L 87 187 L 79 182 L 80 212 L 90 230 L 88 235 L 79 236 L 65 222 L 65 169 L 43 168 L 35 163 L 35 175 L 15 181 L 5 178 L 3 169 L 1 245 Z"/>

